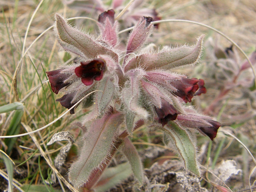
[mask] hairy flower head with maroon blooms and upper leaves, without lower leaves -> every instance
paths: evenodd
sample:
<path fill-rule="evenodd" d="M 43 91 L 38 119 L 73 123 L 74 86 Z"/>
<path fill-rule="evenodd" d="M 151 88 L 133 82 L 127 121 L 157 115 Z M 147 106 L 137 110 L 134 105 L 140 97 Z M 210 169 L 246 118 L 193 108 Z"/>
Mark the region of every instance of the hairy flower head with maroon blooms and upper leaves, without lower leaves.
<path fill-rule="evenodd" d="M 220 123 L 182 104 L 191 102 L 194 95 L 206 93 L 204 81 L 171 71 L 198 61 L 203 36 L 192 47 L 170 47 L 143 53 L 141 50 L 152 34 L 152 20 L 143 17 L 137 22 L 127 38 L 126 50 L 121 52 L 118 22 L 114 20 L 113 10 L 100 14 L 97 41 L 72 28 L 56 14 L 55 30 L 60 45 L 80 56 L 79 62 L 73 65 L 47 72 L 52 91 L 65 93 L 56 101 L 71 108 L 84 95 L 99 90 L 90 100 L 83 101 L 82 106 L 91 109 L 85 121 L 114 108 L 116 113 L 122 114 L 123 123 L 131 134 L 136 122 L 143 119 L 153 125 L 160 123 L 163 127 L 174 121 L 185 128 L 196 128 L 213 139 Z M 75 113 L 74 109 L 70 113 Z"/>

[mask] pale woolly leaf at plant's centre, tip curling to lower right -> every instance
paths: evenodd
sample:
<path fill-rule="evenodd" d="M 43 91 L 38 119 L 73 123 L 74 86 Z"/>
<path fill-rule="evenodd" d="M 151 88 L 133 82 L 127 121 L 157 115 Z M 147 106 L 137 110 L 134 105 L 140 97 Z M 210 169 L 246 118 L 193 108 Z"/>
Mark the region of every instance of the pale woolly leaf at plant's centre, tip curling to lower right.
<path fill-rule="evenodd" d="M 148 112 L 138 105 L 140 98 L 139 80 L 135 76 L 136 72 L 131 72 L 130 85 L 123 88 L 123 103 L 125 107 L 141 118 L 147 118 Z"/>

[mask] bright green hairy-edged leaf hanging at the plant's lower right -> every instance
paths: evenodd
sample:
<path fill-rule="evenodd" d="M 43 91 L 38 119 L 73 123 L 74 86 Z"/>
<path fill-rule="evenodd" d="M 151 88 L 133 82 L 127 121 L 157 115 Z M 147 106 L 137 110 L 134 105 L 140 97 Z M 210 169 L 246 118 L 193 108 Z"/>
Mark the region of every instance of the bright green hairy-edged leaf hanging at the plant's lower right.
<path fill-rule="evenodd" d="M 169 121 L 166 126 L 157 126 L 157 128 L 163 130 L 170 136 L 185 167 L 193 174 L 200 177 L 200 170 L 196 158 L 196 147 L 191 141 L 189 133 L 179 127 L 174 121 Z"/>

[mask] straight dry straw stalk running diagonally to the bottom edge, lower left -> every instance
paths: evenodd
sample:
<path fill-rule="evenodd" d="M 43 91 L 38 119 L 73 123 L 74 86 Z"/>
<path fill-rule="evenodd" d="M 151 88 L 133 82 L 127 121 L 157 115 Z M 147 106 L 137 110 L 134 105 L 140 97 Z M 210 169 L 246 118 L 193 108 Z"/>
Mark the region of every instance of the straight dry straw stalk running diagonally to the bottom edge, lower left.
<path fill-rule="evenodd" d="M 81 100 L 80 100 L 81 101 Z M 32 133 L 32 129 L 30 128 L 30 126 L 24 124 L 23 122 L 21 122 L 22 126 L 26 129 L 27 132 Z M 63 181 L 63 183 L 65 183 L 65 185 L 74 192 L 79 192 L 77 191 L 77 189 L 75 189 L 68 181 L 66 181 L 63 176 L 58 172 L 58 170 L 53 166 L 53 164 L 51 163 L 51 161 L 49 160 L 49 158 L 47 157 L 47 155 L 44 153 L 44 150 L 42 149 L 42 147 L 40 146 L 40 144 L 38 143 L 37 139 L 36 139 L 36 135 L 34 133 L 30 134 L 30 137 L 32 138 L 32 140 L 34 141 L 36 147 L 39 149 L 41 155 L 44 157 L 44 159 L 46 160 L 47 164 L 51 167 L 51 169 L 55 172 L 55 174 L 57 175 L 57 177 L 59 177 L 61 179 L 61 181 Z"/>

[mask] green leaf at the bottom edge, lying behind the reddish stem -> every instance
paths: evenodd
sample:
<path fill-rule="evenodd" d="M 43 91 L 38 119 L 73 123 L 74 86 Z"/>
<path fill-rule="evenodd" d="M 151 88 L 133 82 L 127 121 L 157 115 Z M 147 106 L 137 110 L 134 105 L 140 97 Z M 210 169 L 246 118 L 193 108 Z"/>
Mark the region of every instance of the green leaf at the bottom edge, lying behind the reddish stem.
<path fill-rule="evenodd" d="M 100 181 L 93 188 L 95 192 L 108 191 L 121 181 L 127 179 L 132 174 L 131 167 L 128 163 L 117 165 L 116 167 L 106 168 L 100 177 Z"/>

